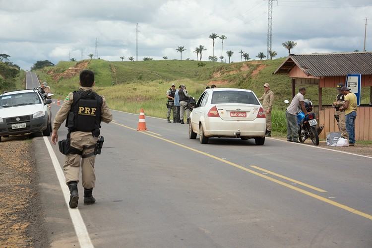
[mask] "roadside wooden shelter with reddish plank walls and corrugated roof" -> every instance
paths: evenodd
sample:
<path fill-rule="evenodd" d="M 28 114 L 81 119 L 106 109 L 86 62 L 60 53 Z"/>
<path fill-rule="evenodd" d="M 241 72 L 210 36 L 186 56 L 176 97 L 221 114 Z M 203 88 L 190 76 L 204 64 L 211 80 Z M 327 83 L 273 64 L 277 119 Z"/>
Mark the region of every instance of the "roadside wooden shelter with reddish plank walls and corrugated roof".
<path fill-rule="evenodd" d="M 320 137 L 327 132 L 338 131 L 334 119 L 334 109 L 322 106 L 322 89 L 335 88 L 340 82 L 346 82 L 346 74 L 362 74 L 362 87 L 370 87 L 372 103 L 372 52 L 331 53 L 331 54 L 291 54 L 273 74 L 287 74 L 292 78 L 292 96 L 295 96 L 296 84 L 318 85 L 319 106 L 317 114 L 319 125 L 324 125 Z M 372 107 L 358 107 L 356 119 L 356 140 L 372 140 Z"/>

